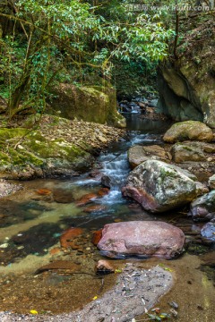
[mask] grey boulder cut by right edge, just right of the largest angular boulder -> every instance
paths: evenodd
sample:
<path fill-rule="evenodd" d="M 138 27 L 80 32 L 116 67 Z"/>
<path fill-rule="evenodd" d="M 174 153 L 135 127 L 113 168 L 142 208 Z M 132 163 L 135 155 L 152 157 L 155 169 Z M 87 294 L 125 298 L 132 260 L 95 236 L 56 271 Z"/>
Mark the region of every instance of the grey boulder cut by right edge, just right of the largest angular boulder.
<path fill-rule="evenodd" d="M 193 220 L 209 221 L 215 218 L 215 190 L 195 199 L 188 214 Z"/>

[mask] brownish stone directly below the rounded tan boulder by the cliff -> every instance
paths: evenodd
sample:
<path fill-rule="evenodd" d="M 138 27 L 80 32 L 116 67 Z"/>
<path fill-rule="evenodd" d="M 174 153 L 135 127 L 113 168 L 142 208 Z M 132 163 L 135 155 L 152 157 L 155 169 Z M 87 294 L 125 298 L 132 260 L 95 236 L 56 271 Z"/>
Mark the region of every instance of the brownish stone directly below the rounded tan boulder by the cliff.
<path fill-rule="evenodd" d="M 206 161 L 202 148 L 192 143 L 176 143 L 171 148 L 171 154 L 176 163 Z"/>

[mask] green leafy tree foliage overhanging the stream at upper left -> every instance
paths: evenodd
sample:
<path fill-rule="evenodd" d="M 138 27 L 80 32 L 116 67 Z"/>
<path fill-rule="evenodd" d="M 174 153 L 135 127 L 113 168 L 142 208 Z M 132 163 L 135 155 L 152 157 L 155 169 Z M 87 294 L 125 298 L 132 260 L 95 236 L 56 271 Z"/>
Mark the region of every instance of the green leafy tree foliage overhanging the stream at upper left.
<path fill-rule="evenodd" d="M 0 17 L 13 21 L 0 38 L 0 95 L 8 114 L 28 107 L 43 113 L 55 82 L 75 84 L 89 74 L 111 80 L 116 64 L 146 70 L 165 59 L 173 30 L 161 14 L 131 13 L 125 4 L 17 0 L 13 11 L 3 10 Z"/>

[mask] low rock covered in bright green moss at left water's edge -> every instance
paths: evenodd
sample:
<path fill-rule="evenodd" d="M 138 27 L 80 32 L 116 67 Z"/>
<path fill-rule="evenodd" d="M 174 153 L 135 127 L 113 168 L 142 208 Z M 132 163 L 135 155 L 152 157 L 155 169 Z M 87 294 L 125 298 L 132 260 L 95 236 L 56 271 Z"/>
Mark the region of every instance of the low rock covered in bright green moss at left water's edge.
<path fill-rule="evenodd" d="M 39 131 L 27 133 L 28 130 L 22 128 L 0 129 L 1 178 L 25 180 L 73 175 L 77 171 L 89 170 L 94 161 L 90 152 L 87 152 L 87 148 L 90 151 L 87 144 L 81 148 L 63 139 L 47 140 Z M 22 143 L 17 145 L 21 138 Z"/>

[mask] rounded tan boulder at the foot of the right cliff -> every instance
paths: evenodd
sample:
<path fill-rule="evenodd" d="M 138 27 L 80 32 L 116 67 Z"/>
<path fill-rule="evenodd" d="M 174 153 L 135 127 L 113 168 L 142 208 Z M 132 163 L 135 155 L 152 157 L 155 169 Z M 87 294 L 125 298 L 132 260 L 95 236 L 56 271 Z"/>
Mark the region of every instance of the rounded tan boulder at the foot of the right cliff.
<path fill-rule="evenodd" d="M 168 143 L 185 140 L 213 140 L 213 132 L 204 123 L 198 121 L 185 121 L 173 124 L 164 134 L 163 140 Z"/>

